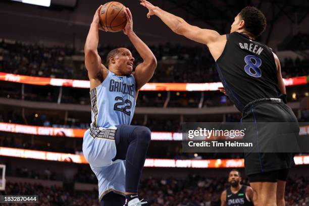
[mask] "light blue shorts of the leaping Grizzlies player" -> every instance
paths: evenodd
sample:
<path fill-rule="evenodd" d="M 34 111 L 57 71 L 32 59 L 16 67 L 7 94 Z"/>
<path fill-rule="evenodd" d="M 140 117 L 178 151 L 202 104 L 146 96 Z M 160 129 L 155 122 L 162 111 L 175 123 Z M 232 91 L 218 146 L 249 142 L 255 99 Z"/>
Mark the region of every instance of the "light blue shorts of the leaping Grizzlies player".
<path fill-rule="evenodd" d="M 83 139 L 83 155 L 98 180 L 99 200 L 113 191 L 125 195 L 125 161 L 116 157 L 117 128 L 88 129 Z"/>

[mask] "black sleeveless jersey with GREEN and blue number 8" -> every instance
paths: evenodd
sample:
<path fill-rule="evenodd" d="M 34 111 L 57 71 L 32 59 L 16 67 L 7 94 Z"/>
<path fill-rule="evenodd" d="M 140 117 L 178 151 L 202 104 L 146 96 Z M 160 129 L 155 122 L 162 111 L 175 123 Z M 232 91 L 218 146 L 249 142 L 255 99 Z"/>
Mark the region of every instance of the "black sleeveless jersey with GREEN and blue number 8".
<path fill-rule="evenodd" d="M 239 111 L 260 98 L 281 98 L 271 48 L 245 34 L 227 34 L 216 66 L 224 89 Z"/>

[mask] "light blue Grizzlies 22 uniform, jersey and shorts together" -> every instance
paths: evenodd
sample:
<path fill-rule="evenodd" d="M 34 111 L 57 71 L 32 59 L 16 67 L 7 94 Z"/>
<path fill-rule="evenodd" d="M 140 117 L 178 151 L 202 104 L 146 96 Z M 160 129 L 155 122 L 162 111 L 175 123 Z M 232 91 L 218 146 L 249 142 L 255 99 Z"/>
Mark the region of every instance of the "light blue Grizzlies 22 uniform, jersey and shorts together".
<path fill-rule="evenodd" d="M 116 156 L 115 125 L 130 125 L 135 109 L 135 79 L 109 71 L 91 89 L 91 125 L 84 134 L 83 154 L 98 179 L 99 200 L 110 191 L 125 192 L 125 162 Z"/>

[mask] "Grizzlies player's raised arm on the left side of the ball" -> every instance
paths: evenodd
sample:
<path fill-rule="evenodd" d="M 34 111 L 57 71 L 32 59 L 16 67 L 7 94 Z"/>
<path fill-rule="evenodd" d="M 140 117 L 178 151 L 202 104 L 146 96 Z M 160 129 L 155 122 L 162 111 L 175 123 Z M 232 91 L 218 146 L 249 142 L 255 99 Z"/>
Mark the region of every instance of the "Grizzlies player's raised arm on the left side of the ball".
<path fill-rule="evenodd" d="M 96 10 L 93 16 L 84 47 L 85 65 L 90 80 L 90 89 L 98 86 L 109 73 L 108 69 L 102 65 L 101 58 L 97 53 L 98 29 L 101 29 L 99 23 L 99 12 L 101 7 L 102 6 Z"/>

